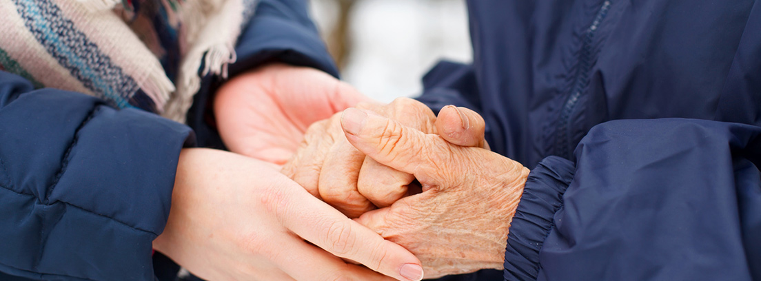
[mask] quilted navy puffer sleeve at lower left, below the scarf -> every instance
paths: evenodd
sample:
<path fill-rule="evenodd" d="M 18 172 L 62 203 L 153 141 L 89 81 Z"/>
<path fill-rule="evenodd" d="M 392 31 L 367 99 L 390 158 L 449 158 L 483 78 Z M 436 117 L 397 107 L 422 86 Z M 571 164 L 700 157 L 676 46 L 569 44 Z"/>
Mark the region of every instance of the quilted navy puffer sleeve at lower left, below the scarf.
<path fill-rule="evenodd" d="M 0 71 L 0 272 L 154 279 L 151 243 L 192 139 L 158 115 Z"/>

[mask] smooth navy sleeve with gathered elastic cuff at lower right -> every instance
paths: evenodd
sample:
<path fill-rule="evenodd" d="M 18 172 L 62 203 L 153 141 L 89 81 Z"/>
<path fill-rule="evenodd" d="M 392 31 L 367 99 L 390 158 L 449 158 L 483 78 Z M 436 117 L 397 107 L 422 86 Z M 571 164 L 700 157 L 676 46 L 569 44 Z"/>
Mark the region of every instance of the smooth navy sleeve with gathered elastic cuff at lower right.
<path fill-rule="evenodd" d="M 533 169 L 507 280 L 761 279 L 761 128 L 606 122 Z"/>

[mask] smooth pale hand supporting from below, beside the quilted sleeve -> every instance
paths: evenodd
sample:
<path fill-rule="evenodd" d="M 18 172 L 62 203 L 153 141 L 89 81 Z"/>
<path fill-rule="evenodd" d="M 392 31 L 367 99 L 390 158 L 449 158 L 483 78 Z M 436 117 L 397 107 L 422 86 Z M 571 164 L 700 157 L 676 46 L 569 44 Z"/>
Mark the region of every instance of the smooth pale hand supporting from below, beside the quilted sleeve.
<path fill-rule="evenodd" d="M 180 153 L 167 225 L 153 246 L 212 280 L 410 280 L 403 268 L 419 264 L 266 163 L 209 149 Z"/>

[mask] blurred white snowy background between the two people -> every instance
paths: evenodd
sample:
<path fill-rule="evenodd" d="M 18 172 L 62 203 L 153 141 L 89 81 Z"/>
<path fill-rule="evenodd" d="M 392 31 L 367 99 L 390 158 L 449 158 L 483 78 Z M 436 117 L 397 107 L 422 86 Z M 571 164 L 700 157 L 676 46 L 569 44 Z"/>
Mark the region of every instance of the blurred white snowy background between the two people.
<path fill-rule="evenodd" d="M 342 79 L 374 99 L 417 96 L 441 58 L 470 62 L 464 0 L 310 0 Z"/>

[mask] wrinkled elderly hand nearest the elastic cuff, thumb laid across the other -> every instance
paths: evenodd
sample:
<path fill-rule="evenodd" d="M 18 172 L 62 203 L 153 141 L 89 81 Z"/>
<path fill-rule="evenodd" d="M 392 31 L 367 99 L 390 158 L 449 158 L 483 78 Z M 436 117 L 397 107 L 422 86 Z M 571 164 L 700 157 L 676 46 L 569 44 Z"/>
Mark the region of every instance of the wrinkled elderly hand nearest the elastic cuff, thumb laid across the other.
<path fill-rule="evenodd" d="M 341 123 L 361 153 L 422 185 L 422 193 L 364 213 L 359 223 L 416 254 L 426 278 L 503 267 L 527 168 L 360 109 L 346 109 Z"/>

